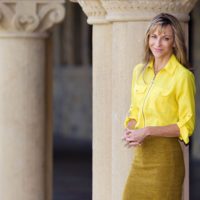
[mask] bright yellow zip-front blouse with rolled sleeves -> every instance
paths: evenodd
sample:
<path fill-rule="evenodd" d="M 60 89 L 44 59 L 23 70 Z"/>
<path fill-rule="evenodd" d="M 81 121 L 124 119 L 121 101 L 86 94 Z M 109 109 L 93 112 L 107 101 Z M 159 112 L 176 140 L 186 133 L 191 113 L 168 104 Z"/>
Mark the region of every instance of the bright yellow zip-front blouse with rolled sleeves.
<path fill-rule="evenodd" d="M 135 129 L 177 124 L 179 139 L 187 144 L 195 125 L 194 75 L 174 55 L 156 75 L 153 61 L 144 74 L 140 74 L 141 67 L 138 64 L 133 70 L 131 106 L 125 127 L 130 119 L 136 120 Z"/>

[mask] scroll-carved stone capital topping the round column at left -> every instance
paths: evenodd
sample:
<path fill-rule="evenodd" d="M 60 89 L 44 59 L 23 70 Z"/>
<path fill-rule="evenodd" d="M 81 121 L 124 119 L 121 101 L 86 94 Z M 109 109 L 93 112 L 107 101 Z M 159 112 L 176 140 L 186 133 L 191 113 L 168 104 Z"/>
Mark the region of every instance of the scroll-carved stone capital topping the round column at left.
<path fill-rule="evenodd" d="M 65 16 L 64 0 L 1 0 L 0 35 L 44 35 Z"/>

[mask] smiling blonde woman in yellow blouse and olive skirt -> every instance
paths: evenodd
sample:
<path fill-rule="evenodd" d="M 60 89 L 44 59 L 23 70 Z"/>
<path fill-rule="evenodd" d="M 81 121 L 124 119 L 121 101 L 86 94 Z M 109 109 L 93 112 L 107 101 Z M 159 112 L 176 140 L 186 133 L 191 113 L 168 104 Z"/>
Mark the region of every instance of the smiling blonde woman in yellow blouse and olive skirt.
<path fill-rule="evenodd" d="M 194 130 L 195 83 L 174 16 L 151 21 L 131 94 L 123 139 L 136 148 L 123 200 L 181 200 L 185 168 L 178 140 L 188 144 Z"/>

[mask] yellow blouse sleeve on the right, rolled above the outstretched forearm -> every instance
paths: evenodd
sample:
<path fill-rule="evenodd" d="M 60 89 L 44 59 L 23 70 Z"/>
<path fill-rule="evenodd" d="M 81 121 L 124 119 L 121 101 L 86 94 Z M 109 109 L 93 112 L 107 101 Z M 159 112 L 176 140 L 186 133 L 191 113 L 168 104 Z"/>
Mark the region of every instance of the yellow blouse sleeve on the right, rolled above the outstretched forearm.
<path fill-rule="evenodd" d="M 183 73 L 177 83 L 178 122 L 180 130 L 179 139 L 185 144 L 189 143 L 195 126 L 195 80 L 191 72 Z"/>

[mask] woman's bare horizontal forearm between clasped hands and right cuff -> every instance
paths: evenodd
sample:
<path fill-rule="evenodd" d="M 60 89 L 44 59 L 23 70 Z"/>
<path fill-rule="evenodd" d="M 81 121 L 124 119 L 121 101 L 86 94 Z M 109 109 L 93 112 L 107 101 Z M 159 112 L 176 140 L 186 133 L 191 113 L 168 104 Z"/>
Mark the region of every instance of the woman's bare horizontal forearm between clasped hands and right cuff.
<path fill-rule="evenodd" d="M 149 126 L 146 127 L 147 136 L 160 136 L 160 137 L 179 137 L 180 131 L 176 124 L 167 126 Z"/>

